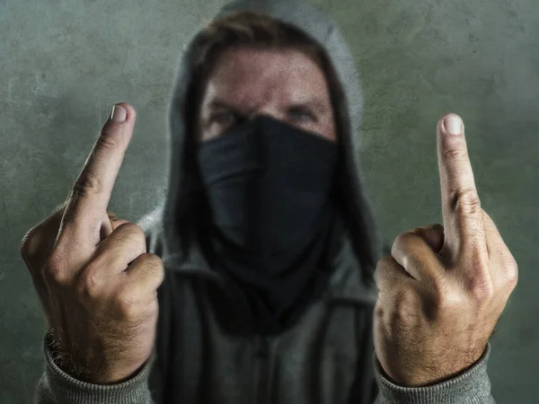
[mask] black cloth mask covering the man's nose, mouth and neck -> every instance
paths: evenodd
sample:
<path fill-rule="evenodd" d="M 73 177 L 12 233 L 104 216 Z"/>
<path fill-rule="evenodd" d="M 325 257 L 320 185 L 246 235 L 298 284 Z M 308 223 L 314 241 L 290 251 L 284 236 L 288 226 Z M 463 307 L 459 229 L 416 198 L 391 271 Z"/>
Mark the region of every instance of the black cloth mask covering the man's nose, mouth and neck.
<path fill-rule="evenodd" d="M 265 116 L 199 145 L 216 270 L 247 295 L 259 333 L 286 328 L 327 284 L 337 162 L 336 144 Z"/>

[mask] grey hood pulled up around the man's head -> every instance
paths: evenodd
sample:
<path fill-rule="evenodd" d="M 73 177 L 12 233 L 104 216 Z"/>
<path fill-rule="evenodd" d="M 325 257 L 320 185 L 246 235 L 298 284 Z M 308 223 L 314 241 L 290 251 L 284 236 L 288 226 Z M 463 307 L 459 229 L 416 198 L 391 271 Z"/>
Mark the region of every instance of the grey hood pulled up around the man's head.
<path fill-rule="evenodd" d="M 273 18 L 291 23 L 317 40 L 331 58 L 336 70 L 346 102 L 338 106 L 346 109 L 348 118 L 341 123 L 345 133 L 340 133 L 341 158 L 344 159 L 343 177 L 347 178 L 343 198 L 348 208 L 341 216 L 347 226 L 347 241 L 351 245 L 361 268 L 362 276 L 372 282 L 376 261 L 381 257 L 381 238 L 376 228 L 376 221 L 365 188 L 360 162 L 361 118 L 363 95 L 360 78 L 349 47 L 343 40 L 337 23 L 322 9 L 301 1 L 294 0 L 243 0 L 226 4 L 216 17 L 239 11 L 265 13 Z M 203 27 L 201 27 L 203 28 Z M 161 206 L 139 221 L 146 233 L 160 234 L 159 252 L 163 261 L 181 256 L 181 240 L 178 233 L 177 206 L 179 189 L 184 177 L 181 157 L 184 152 L 184 118 L 181 110 L 190 83 L 188 56 L 193 47 L 197 32 L 184 49 L 178 63 L 176 80 L 172 89 L 172 102 L 169 109 L 169 154 L 168 187 Z M 336 114 L 339 116 L 340 114 Z"/>

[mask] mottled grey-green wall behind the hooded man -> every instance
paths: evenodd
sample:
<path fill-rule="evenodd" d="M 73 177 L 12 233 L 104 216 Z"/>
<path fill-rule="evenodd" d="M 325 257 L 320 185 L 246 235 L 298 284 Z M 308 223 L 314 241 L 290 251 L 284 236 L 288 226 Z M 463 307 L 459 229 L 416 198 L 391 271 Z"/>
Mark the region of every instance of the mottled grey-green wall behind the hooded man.
<path fill-rule="evenodd" d="M 110 209 L 135 221 L 159 202 L 175 63 L 222 4 L 0 0 L 0 402 L 31 402 L 44 366 L 23 234 L 66 198 L 118 101 L 137 108 L 137 127 Z M 482 205 L 520 270 L 491 340 L 494 396 L 539 402 L 539 3 L 316 4 L 340 22 L 363 76 L 367 187 L 387 242 L 441 223 L 436 123 L 464 118 Z"/>

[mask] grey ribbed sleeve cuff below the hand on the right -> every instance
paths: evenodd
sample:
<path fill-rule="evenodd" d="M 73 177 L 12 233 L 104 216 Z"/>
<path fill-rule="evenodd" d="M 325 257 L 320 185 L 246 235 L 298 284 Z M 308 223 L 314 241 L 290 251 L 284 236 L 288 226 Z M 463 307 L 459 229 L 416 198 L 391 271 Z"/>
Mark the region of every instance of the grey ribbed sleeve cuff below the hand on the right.
<path fill-rule="evenodd" d="M 490 343 L 482 357 L 466 372 L 427 387 L 401 387 L 390 382 L 375 354 L 378 396 L 375 404 L 496 404 L 490 393 L 487 362 Z"/>

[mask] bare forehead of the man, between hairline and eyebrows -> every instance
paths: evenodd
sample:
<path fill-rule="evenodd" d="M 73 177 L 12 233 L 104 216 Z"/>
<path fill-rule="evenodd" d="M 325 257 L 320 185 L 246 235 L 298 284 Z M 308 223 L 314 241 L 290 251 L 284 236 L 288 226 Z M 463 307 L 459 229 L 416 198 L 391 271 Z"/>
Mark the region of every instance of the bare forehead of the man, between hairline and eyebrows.
<path fill-rule="evenodd" d="M 208 78 L 206 101 L 227 101 L 255 108 L 267 101 L 329 99 L 322 70 L 296 49 L 227 49 Z"/>

